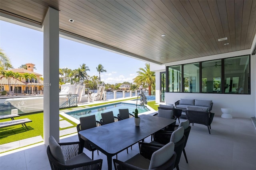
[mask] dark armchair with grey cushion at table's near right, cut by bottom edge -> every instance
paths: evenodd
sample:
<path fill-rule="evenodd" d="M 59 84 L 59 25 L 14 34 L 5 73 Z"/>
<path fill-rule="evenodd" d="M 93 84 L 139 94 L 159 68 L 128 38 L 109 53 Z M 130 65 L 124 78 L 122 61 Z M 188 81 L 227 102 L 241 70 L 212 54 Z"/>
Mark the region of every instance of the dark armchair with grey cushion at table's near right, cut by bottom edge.
<path fill-rule="evenodd" d="M 172 170 L 176 160 L 174 143 L 150 145 L 139 142 L 140 154 L 122 162 L 113 159 L 115 170 Z"/>

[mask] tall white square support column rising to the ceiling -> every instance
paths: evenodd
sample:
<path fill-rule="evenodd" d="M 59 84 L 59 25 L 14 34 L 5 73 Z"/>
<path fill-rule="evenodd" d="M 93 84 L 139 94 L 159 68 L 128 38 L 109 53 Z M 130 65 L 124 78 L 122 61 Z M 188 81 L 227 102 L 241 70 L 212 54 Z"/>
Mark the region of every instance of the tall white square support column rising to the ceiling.
<path fill-rule="evenodd" d="M 48 8 L 44 27 L 44 143 L 57 142 L 59 130 L 59 11 Z"/>

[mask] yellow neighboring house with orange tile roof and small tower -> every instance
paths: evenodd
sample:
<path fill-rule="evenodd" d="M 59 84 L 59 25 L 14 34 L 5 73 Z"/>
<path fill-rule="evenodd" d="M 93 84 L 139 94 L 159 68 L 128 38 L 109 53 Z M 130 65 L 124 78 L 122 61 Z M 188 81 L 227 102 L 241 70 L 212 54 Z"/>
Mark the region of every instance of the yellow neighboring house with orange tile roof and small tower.
<path fill-rule="evenodd" d="M 40 93 L 41 90 L 43 90 L 43 81 L 40 80 L 40 77 L 42 77 L 41 74 L 34 72 L 34 64 L 33 63 L 26 63 L 27 69 L 18 68 L 18 69 L 10 69 L 8 71 L 13 71 L 14 73 L 30 73 L 36 75 L 36 79 L 15 79 L 13 77 L 10 78 L 10 83 L 8 83 L 8 79 L 6 77 L 2 77 L 0 79 L 0 91 L 11 91 L 11 94 L 24 94 L 27 93 L 26 88 L 28 89 L 28 93 L 33 94 L 36 92 L 37 94 Z M 9 89 L 10 84 L 10 89 Z M 31 90 L 30 90 L 31 87 Z"/>

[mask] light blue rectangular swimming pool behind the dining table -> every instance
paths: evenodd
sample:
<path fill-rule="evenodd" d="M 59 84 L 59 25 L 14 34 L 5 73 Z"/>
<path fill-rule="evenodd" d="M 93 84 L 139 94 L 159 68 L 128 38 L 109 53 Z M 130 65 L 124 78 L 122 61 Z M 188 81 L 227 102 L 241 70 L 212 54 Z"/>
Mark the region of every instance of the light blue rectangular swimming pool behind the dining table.
<path fill-rule="evenodd" d="M 100 121 L 101 113 L 113 111 L 114 116 L 117 117 L 117 114 L 119 113 L 118 109 L 129 109 L 129 113 L 132 114 L 132 112 L 134 112 L 136 109 L 136 105 L 127 104 L 127 103 L 115 103 L 115 104 L 103 105 L 99 107 L 82 109 L 79 111 L 66 112 L 66 114 L 71 117 L 74 117 L 77 120 L 79 120 L 80 117 L 95 115 L 96 121 Z M 137 109 L 139 114 L 150 111 L 150 109 L 148 109 L 147 107 L 140 106 L 140 105 L 137 106 Z"/>

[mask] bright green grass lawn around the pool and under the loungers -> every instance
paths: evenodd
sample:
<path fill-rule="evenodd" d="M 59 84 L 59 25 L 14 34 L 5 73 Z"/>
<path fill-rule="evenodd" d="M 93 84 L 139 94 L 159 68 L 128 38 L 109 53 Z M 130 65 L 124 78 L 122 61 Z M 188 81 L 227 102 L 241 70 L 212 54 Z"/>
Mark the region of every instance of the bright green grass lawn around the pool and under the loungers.
<path fill-rule="evenodd" d="M 136 99 L 136 98 L 134 98 L 134 99 Z M 87 106 L 98 106 L 98 105 L 103 105 L 103 104 L 116 103 L 116 102 L 120 102 L 120 101 L 125 101 L 125 99 L 119 100 L 119 101 L 106 102 L 106 103 L 92 104 L 92 105 L 87 105 Z M 156 104 L 155 101 L 148 102 L 148 106 L 157 110 L 158 105 L 155 105 L 155 104 Z M 70 122 L 73 125 L 72 127 L 76 127 L 76 123 L 70 121 L 69 119 L 66 119 L 62 115 L 60 115 L 60 117 L 62 117 L 64 120 Z M 22 139 L 26 139 L 26 138 L 30 138 L 30 137 L 34 137 L 34 136 L 39 136 L 39 135 L 42 136 L 42 138 L 44 138 L 43 113 L 34 113 L 34 114 L 30 114 L 30 115 L 23 115 L 20 117 L 16 117 L 14 119 L 24 119 L 24 118 L 28 118 L 28 119 L 32 120 L 32 122 L 26 123 L 27 127 L 30 130 L 27 130 L 26 127 L 22 127 L 22 125 L 0 128 L 0 144 L 14 142 L 17 140 L 22 140 Z M 0 120 L 0 122 L 10 121 L 10 120 L 11 119 L 4 119 L 4 120 Z M 67 127 L 67 128 L 72 128 L 72 127 Z M 64 129 L 66 129 L 66 128 L 60 128 L 60 130 L 64 130 Z"/>

